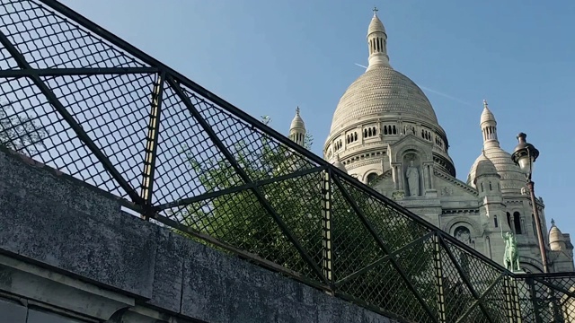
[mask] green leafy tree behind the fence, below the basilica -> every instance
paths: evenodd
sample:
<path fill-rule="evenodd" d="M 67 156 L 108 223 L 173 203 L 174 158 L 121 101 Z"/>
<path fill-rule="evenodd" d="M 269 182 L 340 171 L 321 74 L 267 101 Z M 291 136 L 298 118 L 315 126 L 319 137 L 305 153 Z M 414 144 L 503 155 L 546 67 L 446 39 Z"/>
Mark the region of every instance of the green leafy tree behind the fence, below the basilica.
<path fill-rule="evenodd" d="M 262 122 L 269 124 L 270 118 L 264 117 Z M 311 136 L 306 143 L 309 147 L 312 143 Z M 205 192 L 217 192 L 245 184 L 226 158 L 213 158 L 202 162 L 190 152 L 188 147 L 184 147 L 183 153 L 190 169 L 196 174 Z M 257 142 L 235 144 L 231 153 L 239 167 L 254 181 L 278 178 L 312 165 L 304 156 L 265 135 Z M 322 174 L 315 172 L 274 181 L 257 188 L 317 266 L 322 266 L 325 255 L 323 251 L 326 248 L 323 233 L 326 227 L 323 224 L 322 179 Z M 349 196 L 344 195 L 341 188 L 332 181 L 330 225 L 333 277 L 335 281 L 347 277 L 345 283 L 338 288 L 339 291 L 395 312 L 400 309 L 400 305 L 407 310 L 419 306 L 411 291 L 401 283 L 402 278 L 394 271 L 389 260 L 366 270 L 370 264 L 386 254 L 361 222 L 354 206 L 362 210 L 390 251 L 420 238 L 425 232 L 419 223 L 414 223 L 405 216 L 398 217 L 388 206 L 351 186 L 347 179 L 341 179 L 341 183 Z M 347 197 L 350 197 L 355 205 L 352 205 Z M 195 231 L 315 278 L 311 267 L 251 189 L 193 203 L 178 210 L 174 216 Z M 414 284 L 425 287 L 425 291 L 431 291 L 430 295 L 425 297 L 434 301 L 435 290 L 429 289 L 429 285 L 433 287 L 435 281 L 419 277 L 424 274 L 426 267 L 430 267 L 431 261 L 431 253 L 422 251 L 414 251 L 417 253 L 417 259 L 410 256 L 399 258 L 398 262 Z M 397 301 L 398 298 L 402 301 Z M 403 314 L 409 316 L 407 311 Z"/>

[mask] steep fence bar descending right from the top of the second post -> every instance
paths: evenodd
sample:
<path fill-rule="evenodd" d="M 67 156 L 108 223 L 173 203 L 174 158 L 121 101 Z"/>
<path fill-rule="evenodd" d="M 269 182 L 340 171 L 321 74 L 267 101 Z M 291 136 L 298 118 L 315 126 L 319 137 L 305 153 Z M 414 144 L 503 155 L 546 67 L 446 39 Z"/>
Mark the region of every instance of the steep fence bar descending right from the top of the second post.
<path fill-rule="evenodd" d="M 343 195 L 343 197 L 346 199 L 346 201 L 348 201 L 349 205 L 351 205 L 351 208 L 353 208 L 353 210 L 356 212 L 356 214 L 358 214 L 358 217 L 359 217 L 359 220 L 361 221 L 361 223 L 363 223 L 363 225 L 366 227 L 367 231 L 369 231 L 369 233 L 374 238 L 374 240 L 376 240 L 376 243 L 379 246 L 379 248 L 383 249 L 384 252 L 387 255 L 389 255 L 391 253 L 390 249 L 387 247 L 384 240 L 382 240 L 379 237 L 376 230 L 371 226 L 371 223 L 369 223 L 367 221 L 366 214 L 363 213 L 363 211 L 356 204 L 356 201 L 349 195 L 349 192 L 343 187 L 340 179 L 337 176 L 333 176 L 333 180 L 335 181 L 335 184 L 337 185 L 337 187 L 340 188 L 341 194 Z M 393 257 L 390 257 L 389 261 L 390 261 L 391 265 L 394 266 L 394 269 L 397 271 L 397 273 L 402 277 L 403 283 L 405 283 L 407 285 L 407 288 L 409 288 L 409 290 L 413 293 L 413 296 L 415 296 L 417 301 L 420 302 L 421 306 L 423 307 L 423 310 L 425 310 L 428 313 L 429 318 L 433 319 L 434 322 L 438 322 L 438 318 L 437 318 L 436 314 L 433 313 L 433 311 L 431 309 L 429 309 L 428 304 L 423 300 L 423 298 L 421 298 L 420 293 L 417 292 L 417 290 L 415 289 L 415 286 L 413 286 L 413 284 L 411 284 L 411 280 L 403 272 L 402 267 L 399 266 L 399 264 L 397 263 L 397 261 L 395 261 L 395 259 Z"/>

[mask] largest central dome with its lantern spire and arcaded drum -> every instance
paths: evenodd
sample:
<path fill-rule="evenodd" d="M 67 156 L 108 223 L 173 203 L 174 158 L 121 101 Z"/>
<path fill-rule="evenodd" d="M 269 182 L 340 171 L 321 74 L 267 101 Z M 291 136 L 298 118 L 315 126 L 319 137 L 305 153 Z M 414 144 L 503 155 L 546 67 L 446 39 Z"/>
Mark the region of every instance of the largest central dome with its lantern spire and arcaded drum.
<path fill-rule="evenodd" d="M 403 158 L 419 158 L 455 176 L 447 135 L 431 103 L 417 84 L 389 65 L 387 34 L 376 12 L 367 29 L 367 49 L 366 72 L 349 85 L 333 113 L 324 158 L 340 161 L 364 182 L 392 167 L 399 171 Z M 400 148 L 405 138 L 411 144 Z"/>

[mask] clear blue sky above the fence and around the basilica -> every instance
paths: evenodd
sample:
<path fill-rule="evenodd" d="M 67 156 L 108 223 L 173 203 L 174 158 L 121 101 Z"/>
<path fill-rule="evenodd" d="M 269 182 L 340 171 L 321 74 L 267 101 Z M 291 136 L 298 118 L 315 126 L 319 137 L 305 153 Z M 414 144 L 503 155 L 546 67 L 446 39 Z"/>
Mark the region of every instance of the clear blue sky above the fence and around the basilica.
<path fill-rule="evenodd" d="M 554 218 L 563 232 L 575 232 L 575 2 L 62 2 L 252 116 L 270 115 L 284 134 L 299 105 L 318 154 L 341 94 L 363 73 L 356 64 L 367 65 L 376 5 L 391 64 L 428 95 L 457 178 L 466 179 L 481 153 L 487 99 L 504 149 L 512 151 L 523 131 L 541 152 L 535 193 L 544 197 L 548 223 Z"/>

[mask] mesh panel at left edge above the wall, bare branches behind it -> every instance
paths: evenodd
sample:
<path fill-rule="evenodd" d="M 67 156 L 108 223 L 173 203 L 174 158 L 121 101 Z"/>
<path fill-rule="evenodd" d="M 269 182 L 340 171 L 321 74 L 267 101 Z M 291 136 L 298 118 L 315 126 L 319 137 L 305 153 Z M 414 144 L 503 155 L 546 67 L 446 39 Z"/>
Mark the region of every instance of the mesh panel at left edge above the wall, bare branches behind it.
<path fill-rule="evenodd" d="M 0 144 L 118 196 L 126 196 L 30 79 L 4 80 Z M 85 104 L 77 107 L 85 109 Z M 86 125 L 85 127 L 89 127 Z"/>

